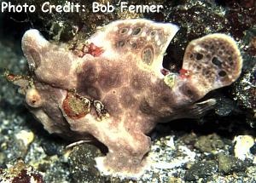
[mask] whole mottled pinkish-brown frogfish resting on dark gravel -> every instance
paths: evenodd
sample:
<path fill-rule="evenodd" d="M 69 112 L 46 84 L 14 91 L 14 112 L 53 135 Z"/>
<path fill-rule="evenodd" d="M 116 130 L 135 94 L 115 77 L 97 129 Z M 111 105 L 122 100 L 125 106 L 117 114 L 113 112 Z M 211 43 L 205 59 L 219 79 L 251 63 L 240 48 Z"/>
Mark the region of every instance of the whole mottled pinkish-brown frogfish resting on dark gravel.
<path fill-rule="evenodd" d="M 108 146 L 107 156 L 96 158 L 98 169 L 137 176 L 149 162 L 146 134 L 155 124 L 201 115 L 215 100 L 195 102 L 241 72 L 235 41 L 212 34 L 189 43 L 181 74 L 163 75 L 163 55 L 177 30 L 170 23 L 115 21 L 90 37 L 95 50 L 82 56 L 26 31 L 22 49 L 31 76 L 6 76 L 49 133 L 73 141 L 92 135 Z"/>

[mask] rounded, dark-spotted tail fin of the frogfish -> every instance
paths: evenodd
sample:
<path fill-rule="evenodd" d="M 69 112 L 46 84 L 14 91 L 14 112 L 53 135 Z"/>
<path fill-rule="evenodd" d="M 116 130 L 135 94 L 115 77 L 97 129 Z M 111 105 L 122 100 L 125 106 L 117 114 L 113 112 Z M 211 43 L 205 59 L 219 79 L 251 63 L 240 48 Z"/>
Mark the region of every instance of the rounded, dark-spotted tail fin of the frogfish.
<path fill-rule="evenodd" d="M 212 89 L 235 82 L 241 66 L 241 54 L 235 40 L 220 33 L 190 42 L 183 58 L 183 70 L 189 71 L 189 83 L 195 84 L 201 97 Z"/>

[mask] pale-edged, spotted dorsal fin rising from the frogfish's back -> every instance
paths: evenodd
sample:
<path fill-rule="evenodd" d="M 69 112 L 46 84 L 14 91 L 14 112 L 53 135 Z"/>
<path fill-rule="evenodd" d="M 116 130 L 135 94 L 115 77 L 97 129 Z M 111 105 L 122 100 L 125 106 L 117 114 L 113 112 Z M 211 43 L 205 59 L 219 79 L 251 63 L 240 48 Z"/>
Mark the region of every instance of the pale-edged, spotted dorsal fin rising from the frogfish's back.
<path fill-rule="evenodd" d="M 102 47 L 105 50 L 102 56 L 109 60 L 136 59 L 142 67 L 149 66 L 160 74 L 163 54 L 177 31 L 178 27 L 172 23 L 144 19 L 117 20 L 97 31 L 89 42 Z"/>

